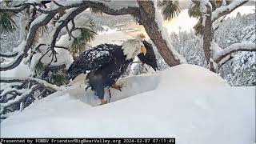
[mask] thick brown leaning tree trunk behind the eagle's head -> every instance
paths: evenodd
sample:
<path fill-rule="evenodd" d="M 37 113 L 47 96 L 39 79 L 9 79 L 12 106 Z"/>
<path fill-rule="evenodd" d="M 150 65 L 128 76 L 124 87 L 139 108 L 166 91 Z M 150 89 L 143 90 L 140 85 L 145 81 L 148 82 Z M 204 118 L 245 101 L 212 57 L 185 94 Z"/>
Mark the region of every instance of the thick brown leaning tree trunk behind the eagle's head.
<path fill-rule="evenodd" d="M 144 26 L 146 33 L 158 48 L 162 58 L 169 66 L 181 64 L 181 60 L 175 57 L 174 52 L 169 49 L 166 40 L 158 30 L 158 23 L 155 22 L 154 3 L 152 1 L 137 2 L 140 6 L 140 13 L 138 14 L 139 22 Z"/>

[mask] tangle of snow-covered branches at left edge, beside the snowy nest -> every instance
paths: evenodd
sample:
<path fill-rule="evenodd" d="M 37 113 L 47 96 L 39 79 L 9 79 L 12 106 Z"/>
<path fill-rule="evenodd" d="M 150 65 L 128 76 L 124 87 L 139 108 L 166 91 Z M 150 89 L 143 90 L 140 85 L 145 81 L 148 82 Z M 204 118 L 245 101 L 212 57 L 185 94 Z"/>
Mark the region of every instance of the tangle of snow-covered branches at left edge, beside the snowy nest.
<path fill-rule="evenodd" d="M 46 97 L 57 90 L 64 90 L 38 78 L 1 78 L 0 114 L 22 110 L 37 98 Z"/>

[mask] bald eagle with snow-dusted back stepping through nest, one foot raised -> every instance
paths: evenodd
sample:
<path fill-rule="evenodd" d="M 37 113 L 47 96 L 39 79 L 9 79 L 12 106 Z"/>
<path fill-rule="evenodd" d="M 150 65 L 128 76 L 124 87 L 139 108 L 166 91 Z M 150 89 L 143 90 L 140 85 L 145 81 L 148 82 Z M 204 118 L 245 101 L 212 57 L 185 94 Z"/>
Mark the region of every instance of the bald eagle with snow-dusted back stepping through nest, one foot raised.
<path fill-rule="evenodd" d="M 145 36 L 139 34 L 134 39 L 123 42 L 122 46 L 102 44 L 84 51 L 67 70 L 69 78 L 74 79 L 79 74 L 86 74 L 87 87 L 91 87 L 102 104 L 105 104 L 104 88 L 113 86 L 120 89 L 122 86 L 115 82 L 138 54 L 146 54 L 143 38 Z"/>

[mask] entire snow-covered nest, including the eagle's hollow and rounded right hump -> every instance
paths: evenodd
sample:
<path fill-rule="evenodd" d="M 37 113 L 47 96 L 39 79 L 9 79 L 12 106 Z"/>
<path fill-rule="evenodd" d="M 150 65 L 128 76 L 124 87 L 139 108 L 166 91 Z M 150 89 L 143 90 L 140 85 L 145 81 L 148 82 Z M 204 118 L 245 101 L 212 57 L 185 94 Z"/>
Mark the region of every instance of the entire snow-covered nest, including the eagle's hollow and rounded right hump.
<path fill-rule="evenodd" d="M 196 144 L 255 141 L 254 87 L 230 87 L 218 74 L 187 64 L 118 82 L 125 85 L 122 92 L 111 89 L 111 102 L 102 106 L 86 104 L 94 98 L 89 98 L 90 92 L 84 94 L 83 86 L 43 98 L 4 120 L 1 137 L 174 137 L 178 143 Z"/>

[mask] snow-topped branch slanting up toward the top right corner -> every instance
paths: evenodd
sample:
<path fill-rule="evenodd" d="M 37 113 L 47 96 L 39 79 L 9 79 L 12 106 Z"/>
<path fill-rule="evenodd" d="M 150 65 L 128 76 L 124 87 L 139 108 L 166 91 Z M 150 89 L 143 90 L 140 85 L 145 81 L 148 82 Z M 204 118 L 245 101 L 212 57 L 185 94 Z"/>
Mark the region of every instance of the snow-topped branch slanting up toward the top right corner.
<path fill-rule="evenodd" d="M 226 14 L 230 14 L 233 10 L 235 10 L 239 6 L 242 6 L 246 2 L 248 2 L 248 1 L 247 0 L 246 1 L 245 0 L 242 0 L 242 1 L 241 0 L 234 0 L 227 6 L 218 7 L 212 13 L 212 17 L 211 17 L 212 22 L 214 22 L 216 19 L 218 19 L 218 18 L 220 18 L 220 17 L 222 17 Z"/>

